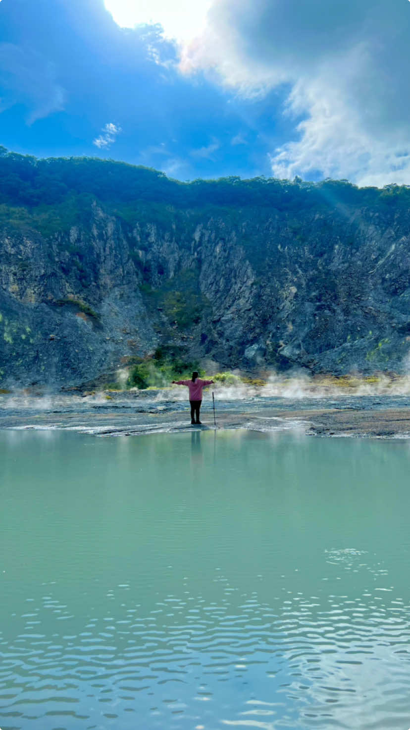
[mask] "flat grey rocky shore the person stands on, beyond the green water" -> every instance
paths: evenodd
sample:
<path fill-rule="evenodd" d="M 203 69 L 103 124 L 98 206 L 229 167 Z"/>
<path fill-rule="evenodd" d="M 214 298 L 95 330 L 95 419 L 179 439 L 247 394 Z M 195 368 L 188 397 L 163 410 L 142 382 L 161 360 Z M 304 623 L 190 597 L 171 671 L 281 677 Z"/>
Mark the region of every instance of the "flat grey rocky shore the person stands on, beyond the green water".
<path fill-rule="evenodd" d="M 107 396 L 105 396 L 107 398 Z M 204 401 L 202 426 L 190 426 L 184 401 L 136 398 L 105 399 L 26 398 L 0 402 L 0 430 L 62 429 L 99 437 L 213 430 L 212 405 Z M 87 402 L 88 401 L 88 402 Z M 216 428 L 269 433 L 298 431 L 319 437 L 410 439 L 410 399 L 340 400 L 332 407 L 322 400 L 274 404 L 274 399 L 218 401 Z"/>

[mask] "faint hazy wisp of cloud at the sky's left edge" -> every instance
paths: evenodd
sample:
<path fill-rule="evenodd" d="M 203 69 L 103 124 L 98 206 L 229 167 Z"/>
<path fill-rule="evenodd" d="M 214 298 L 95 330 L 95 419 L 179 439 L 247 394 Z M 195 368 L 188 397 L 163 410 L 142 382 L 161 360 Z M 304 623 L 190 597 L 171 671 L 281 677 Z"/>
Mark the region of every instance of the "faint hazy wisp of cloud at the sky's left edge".
<path fill-rule="evenodd" d="M 24 104 L 28 124 L 63 110 L 65 91 L 53 64 L 35 50 L 0 43 L 0 112 Z"/>

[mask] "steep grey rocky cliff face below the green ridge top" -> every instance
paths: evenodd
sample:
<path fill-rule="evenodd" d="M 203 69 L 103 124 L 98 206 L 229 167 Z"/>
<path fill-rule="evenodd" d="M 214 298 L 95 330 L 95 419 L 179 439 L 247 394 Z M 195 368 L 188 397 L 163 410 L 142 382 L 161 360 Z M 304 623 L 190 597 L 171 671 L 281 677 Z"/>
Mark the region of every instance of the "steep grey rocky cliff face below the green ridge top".
<path fill-rule="evenodd" d="M 74 385 L 166 345 L 241 369 L 403 372 L 410 212 L 147 205 L 0 230 L 0 387 Z M 37 220 L 37 219 L 36 219 Z"/>

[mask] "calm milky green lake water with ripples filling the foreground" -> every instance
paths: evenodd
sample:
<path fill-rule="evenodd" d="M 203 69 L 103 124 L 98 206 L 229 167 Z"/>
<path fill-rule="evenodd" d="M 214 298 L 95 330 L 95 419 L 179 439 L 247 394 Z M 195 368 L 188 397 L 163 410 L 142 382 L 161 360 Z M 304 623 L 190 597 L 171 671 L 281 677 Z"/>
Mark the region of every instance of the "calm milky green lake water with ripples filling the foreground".
<path fill-rule="evenodd" d="M 409 456 L 1 432 L 1 729 L 407 730 Z"/>

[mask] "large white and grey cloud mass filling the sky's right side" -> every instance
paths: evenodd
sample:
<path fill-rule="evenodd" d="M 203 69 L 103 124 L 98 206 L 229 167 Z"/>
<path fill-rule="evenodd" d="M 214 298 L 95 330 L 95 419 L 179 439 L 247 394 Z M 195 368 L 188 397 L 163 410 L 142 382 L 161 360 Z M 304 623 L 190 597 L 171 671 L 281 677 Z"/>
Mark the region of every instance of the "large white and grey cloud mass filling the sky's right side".
<path fill-rule="evenodd" d="M 409 31 L 405 0 L 214 0 L 180 69 L 248 99 L 290 88 L 275 176 L 410 183 Z"/>

